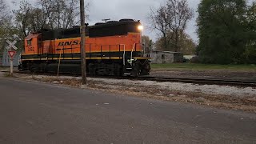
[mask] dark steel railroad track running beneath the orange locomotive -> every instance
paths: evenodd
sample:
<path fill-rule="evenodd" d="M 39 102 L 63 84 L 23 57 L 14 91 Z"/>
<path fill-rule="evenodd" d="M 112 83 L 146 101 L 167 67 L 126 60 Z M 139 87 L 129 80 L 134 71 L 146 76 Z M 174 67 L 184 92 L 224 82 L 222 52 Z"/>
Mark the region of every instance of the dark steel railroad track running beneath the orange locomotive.
<path fill-rule="evenodd" d="M 16 71 L 19 74 L 31 74 L 30 71 Z M 48 76 L 56 76 L 53 73 L 38 73 Z M 35 74 L 36 75 L 36 74 Z M 74 76 L 78 77 L 80 74 L 59 74 L 60 76 Z M 230 80 L 230 79 L 218 79 L 218 78 L 167 78 L 167 77 L 152 77 L 152 76 L 140 76 L 140 77 L 116 77 L 116 76 L 95 76 L 89 78 L 113 78 L 113 79 L 131 79 L 142 81 L 156 81 L 156 82 L 183 82 L 194 83 L 200 85 L 220 85 L 220 86 L 242 86 L 242 87 L 256 87 L 256 81 L 250 80 Z"/>

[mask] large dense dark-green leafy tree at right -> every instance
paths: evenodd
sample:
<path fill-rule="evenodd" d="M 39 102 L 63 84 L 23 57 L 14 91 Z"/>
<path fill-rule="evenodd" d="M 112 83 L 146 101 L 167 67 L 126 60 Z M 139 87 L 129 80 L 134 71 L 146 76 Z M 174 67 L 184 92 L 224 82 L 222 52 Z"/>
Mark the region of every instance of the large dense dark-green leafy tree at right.
<path fill-rule="evenodd" d="M 202 62 L 242 62 L 251 38 L 247 12 L 246 0 L 202 0 L 198 6 L 198 51 Z"/>

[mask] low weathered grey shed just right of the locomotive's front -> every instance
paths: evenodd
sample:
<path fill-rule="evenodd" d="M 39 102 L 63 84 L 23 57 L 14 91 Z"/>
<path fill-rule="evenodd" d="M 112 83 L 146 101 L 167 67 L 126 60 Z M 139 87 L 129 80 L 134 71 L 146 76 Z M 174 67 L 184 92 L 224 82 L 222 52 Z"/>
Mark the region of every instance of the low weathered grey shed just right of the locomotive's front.
<path fill-rule="evenodd" d="M 151 51 L 150 57 L 152 58 L 151 63 L 183 62 L 183 54 L 180 52 L 154 50 Z"/>

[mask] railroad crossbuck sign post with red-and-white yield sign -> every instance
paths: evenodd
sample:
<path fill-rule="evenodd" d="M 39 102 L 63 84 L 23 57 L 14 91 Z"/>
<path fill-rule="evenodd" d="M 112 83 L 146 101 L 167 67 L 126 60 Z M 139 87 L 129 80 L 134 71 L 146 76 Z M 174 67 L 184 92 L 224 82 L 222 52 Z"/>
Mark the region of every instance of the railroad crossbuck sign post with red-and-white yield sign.
<path fill-rule="evenodd" d="M 15 43 L 17 41 L 10 42 L 9 40 L 7 40 L 6 42 L 9 44 L 9 46 L 7 46 L 6 49 L 8 50 L 8 54 L 10 56 L 10 76 L 13 77 L 14 76 L 14 55 L 16 53 L 16 51 L 14 51 L 14 50 L 18 49 L 15 46 Z M 12 50 L 12 49 L 14 49 L 14 50 Z"/>

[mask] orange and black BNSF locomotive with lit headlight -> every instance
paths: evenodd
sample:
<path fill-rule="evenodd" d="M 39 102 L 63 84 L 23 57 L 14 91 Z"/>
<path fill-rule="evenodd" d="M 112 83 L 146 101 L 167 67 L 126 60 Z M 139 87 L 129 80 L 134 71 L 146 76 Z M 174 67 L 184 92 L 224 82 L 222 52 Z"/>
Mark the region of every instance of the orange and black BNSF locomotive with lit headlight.
<path fill-rule="evenodd" d="M 147 75 L 141 23 L 121 19 L 86 26 L 86 70 L 91 75 Z M 81 73 L 80 27 L 42 30 L 25 38 L 19 70 Z"/>

